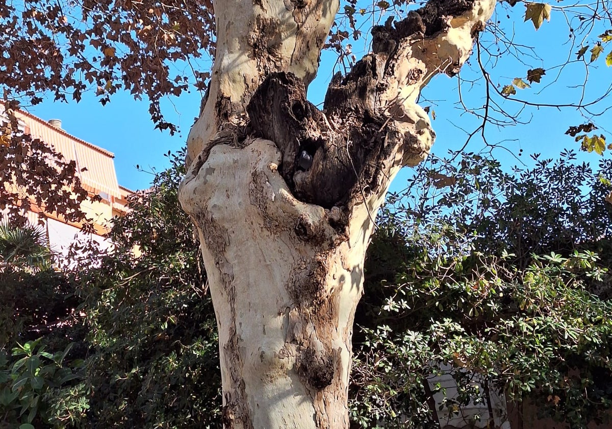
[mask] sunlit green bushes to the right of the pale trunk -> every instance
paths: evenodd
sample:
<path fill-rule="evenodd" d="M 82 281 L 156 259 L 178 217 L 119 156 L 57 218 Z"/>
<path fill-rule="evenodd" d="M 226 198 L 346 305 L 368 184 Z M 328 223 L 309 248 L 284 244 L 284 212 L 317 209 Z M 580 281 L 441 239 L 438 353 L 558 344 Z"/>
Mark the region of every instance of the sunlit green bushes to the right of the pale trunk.
<path fill-rule="evenodd" d="M 593 171 L 565 153 L 512 174 L 474 154 L 432 164 L 390 197 L 368 251 L 354 422 L 438 428 L 442 409 L 486 408 L 484 387 L 572 428 L 600 421 L 612 404 L 610 161 Z M 455 184 L 436 186 L 433 168 Z M 441 373 L 457 395 L 427 382 Z"/>

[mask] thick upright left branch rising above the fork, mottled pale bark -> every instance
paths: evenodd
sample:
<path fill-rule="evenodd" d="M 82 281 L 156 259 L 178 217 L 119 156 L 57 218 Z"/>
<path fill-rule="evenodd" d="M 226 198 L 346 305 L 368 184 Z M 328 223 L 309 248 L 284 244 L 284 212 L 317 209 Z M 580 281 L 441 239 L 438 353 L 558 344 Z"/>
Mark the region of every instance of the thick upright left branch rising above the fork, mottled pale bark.
<path fill-rule="evenodd" d="M 291 72 L 305 85 L 339 0 L 223 0 L 215 2 L 217 51 L 200 119 L 188 137 L 187 164 L 223 128 L 243 123 L 250 97 L 272 72 Z"/>

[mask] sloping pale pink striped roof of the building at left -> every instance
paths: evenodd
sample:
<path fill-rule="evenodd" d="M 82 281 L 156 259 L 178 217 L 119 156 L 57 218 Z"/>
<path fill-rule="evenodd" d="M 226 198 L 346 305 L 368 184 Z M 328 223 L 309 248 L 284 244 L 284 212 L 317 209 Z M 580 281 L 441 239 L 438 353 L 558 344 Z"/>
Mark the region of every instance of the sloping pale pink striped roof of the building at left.
<path fill-rule="evenodd" d="M 34 139 L 43 140 L 65 159 L 76 162 L 77 174 L 84 188 L 94 194 L 102 194 L 105 199 L 108 198 L 103 194 L 121 198 L 112 152 L 81 140 L 31 113 L 20 110 L 17 116 L 29 127 L 29 134 Z"/>

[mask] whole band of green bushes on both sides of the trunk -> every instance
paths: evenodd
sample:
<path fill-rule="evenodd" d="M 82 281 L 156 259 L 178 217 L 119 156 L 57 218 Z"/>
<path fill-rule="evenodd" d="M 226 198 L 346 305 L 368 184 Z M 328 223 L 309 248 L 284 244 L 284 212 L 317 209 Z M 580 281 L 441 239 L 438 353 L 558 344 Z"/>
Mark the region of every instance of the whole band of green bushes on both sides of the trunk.
<path fill-rule="evenodd" d="M 612 404 L 611 162 L 594 170 L 564 153 L 507 173 L 456 155 L 420 167 L 379 216 L 356 314 L 352 425 L 439 428 L 436 413 L 486 405 L 485 390 L 528 397 L 573 428 L 598 421 Z M 181 159 L 116 219 L 114 251 L 78 249 L 95 261 L 75 281 L 0 276 L 4 349 L 24 344 L 0 352 L 5 425 L 220 427 L 216 324 L 177 201 Z M 456 394 L 431 381 L 442 373 Z"/>

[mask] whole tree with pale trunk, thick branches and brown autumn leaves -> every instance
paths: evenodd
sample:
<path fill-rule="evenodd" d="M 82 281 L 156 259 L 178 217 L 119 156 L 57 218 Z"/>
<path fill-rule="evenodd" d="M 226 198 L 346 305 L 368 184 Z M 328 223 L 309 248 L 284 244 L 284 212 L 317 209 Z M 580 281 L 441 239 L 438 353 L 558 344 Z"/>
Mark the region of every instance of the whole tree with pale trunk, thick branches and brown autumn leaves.
<path fill-rule="evenodd" d="M 123 87 L 146 94 L 154 121 L 173 131 L 159 98 L 188 85 L 171 78 L 167 62 L 214 53 L 180 199 L 198 230 L 217 316 L 223 423 L 347 427 L 353 317 L 376 211 L 397 171 L 418 164 L 433 142 L 416 104 L 420 90 L 438 73 L 459 72 L 496 2 L 431 0 L 375 26 L 373 53 L 335 75 L 323 111 L 305 93 L 338 0 L 216 2 L 214 22 L 208 1 L 86 1 L 76 7 L 80 20 L 62 6 L 0 6 L 0 29 L 12 35 L 0 57 L 6 97 L 37 102 L 46 89 L 78 101 L 89 82 L 104 103 Z M 356 2 L 346 6 L 357 36 Z M 551 7 L 528 3 L 526 11 L 538 28 Z M 338 29 L 330 44 L 347 36 Z M 589 47 L 581 45 L 579 59 Z M 28 78 L 31 70 L 39 78 Z M 529 70 L 527 80 L 544 71 Z M 501 97 L 526 85 L 517 78 L 497 89 L 484 77 Z M 492 105 L 487 99 L 483 113 L 474 112 L 482 127 L 503 124 Z M 603 152 L 592 129 L 581 124 L 575 137 Z"/>

